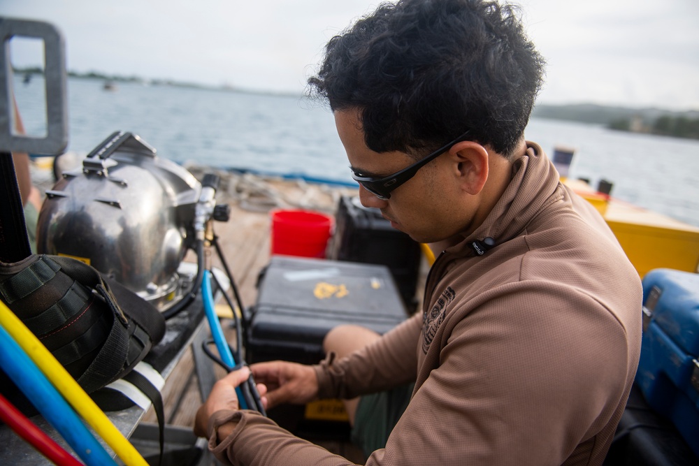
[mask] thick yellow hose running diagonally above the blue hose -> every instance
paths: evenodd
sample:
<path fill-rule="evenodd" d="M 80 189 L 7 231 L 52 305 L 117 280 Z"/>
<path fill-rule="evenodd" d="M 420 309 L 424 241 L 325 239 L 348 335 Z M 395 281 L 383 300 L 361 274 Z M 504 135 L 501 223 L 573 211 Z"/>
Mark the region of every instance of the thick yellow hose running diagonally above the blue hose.
<path fill-rule="evenodd" d="M 65 368 L 38 340 L 34 333 L 10 311 L 5 303 L 0 301 L 0 325 L 7 330 L 15 342 L 20 345 L 32 361 L 41 369 L 41 372 L 51 381 L 63 398 L 73 406 L 75 411 L 92 426 L 95 432 L 117 453 L 127 466 L 148 466 L 143 456 L 136 451 L 133 445 L 122 435 L 95 405 L 92 398 L 82 390 L 78 382 L 71 377 Z"/>

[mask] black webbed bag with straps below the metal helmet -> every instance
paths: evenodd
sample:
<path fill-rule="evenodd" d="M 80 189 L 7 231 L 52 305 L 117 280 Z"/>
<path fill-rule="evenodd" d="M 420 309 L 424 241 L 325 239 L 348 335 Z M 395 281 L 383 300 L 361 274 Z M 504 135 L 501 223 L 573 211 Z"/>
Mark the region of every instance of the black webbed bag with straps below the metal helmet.
<path fill-rule="evenodd" d="M 96 400 L 100 388 L 129 374 L 165 333 L 165 320 L 154 306 L 68 257 L 33 254 L 16 263 L 0 262 L 0 300 Z M 1 375 L 0 391 L 25 413 L 35 414 Z"/>

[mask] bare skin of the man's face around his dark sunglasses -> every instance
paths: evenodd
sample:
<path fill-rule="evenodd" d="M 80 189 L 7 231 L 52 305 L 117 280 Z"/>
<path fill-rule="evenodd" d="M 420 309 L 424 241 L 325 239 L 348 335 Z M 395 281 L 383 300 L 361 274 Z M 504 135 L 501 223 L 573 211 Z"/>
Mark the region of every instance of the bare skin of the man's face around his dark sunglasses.
<path fill-rule="evenodd" d="M 374 152 L 366 147 L 356 110 L 335 112 L 340 140 L 345 146 L 352 169 L 364 176 L 384 177 L 415 162 L 404 152 Z M 450 182 L 449 156 L 439 156 L 421 168 L 405 184 L 382 200 L 359 187 L 359 199 L 365 207 L 377 207 L 391 226 L 408 233 L 418 242 L 437 242 L 451 238 L 464 228 L 456 210 L 456 191 Z M 466 222 L 468 223 L 468 222 Z"/>

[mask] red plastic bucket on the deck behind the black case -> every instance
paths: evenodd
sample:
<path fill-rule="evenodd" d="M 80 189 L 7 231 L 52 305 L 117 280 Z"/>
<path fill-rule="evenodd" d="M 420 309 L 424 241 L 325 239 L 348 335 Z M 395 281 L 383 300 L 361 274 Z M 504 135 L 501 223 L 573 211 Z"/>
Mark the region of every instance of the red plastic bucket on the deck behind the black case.
<path fill-rule="evenodd" d="M 333 217 L 310 210 L 273 210 L 272 254 L 325 257 Z"/>

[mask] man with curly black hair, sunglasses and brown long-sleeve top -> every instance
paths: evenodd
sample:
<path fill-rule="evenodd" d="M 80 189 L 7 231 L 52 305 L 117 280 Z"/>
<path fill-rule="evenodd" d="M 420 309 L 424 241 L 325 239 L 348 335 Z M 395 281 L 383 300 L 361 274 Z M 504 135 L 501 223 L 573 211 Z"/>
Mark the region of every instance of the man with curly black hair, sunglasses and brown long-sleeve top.
<path fill-rule="evenodd" d="M 361 202 L 438 258 L 422 312 L 386 335 L 341 326 L 319 365 L 253 365 L 268 407 L 347 400 L 367 465 L 603 463 L 640 352 L 640 279 L 524 139 L 543 66 L 494 1 L 401 0 L 331 39 L 310 85 Z M 247 374 L 199 410 L 217 458 L 348 464 L 239 411 Z"/>

